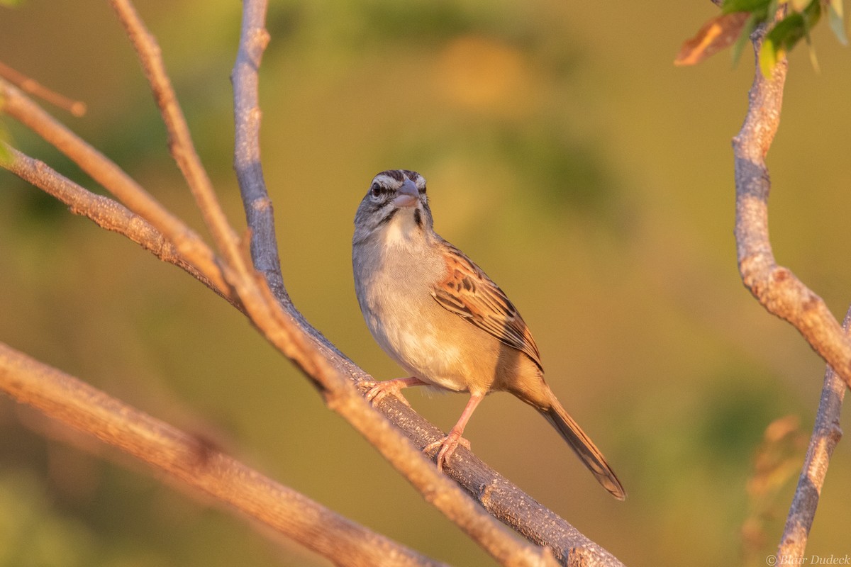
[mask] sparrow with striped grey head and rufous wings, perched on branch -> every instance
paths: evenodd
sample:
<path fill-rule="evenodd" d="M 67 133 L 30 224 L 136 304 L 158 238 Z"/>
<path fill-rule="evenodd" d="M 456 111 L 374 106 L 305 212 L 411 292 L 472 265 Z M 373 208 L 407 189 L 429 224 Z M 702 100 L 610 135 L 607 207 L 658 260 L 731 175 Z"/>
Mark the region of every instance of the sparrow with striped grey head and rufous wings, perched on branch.
<path fill-rule="evenodd" d="M 467 392 L 470 400 L 435 449 L 437 468 L 453 456 L 486 394 L 508 392 L 550 422 L 597 481 L 626 496 L 603 453 L 544 381 L 538 347 L 513 303 L 464 252 L 434 230 L 426 179 L 407 169 L 374 177 L 355 215 L 351 260 L 363 318 L 375 341 L 411 376 L 369 381 L 376 404 L 402 388 Z M 405 401 L 407 403 L 407 401 Z"/>

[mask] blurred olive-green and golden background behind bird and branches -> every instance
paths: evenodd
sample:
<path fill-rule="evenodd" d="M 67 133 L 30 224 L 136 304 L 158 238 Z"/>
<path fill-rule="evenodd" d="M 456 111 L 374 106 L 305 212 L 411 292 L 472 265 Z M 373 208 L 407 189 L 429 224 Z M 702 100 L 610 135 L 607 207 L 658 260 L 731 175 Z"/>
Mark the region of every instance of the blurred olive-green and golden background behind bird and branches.
<path fill-rule="evenodd" d="M 680 43 L 717 8 L 673 8 L 273 0 L 261 68 L 266 182 L 295 304 L 358 364 L 390 378 L 400 370 L 354 298 L 351 221 L 374 173 L 424 174 L 437 230 L 520 307 L 549 382 L 630 496 L 614 501 L 543 419 L 504 394 L 467 429 L 477 455 L 626 564 L 761 565 L 780 536 L 824 365 L 757 305 L 736 269 L 730 139 L 750 53 L 735 68 L 727 53 L 675 68 Z M 228 79 L 240 3 L 139 9 L 242 228 Z M 820 73 L 805 46 L 791 56 L 769 155 L 771 230 L 778 261 L 841 318 L 851 302 L 851 57 L 820 27 Z M 83 118 L 51 111 L 201 229 L 106 3 L 0 9 L 0 60 L 85 101 Z M 3 122 L 15 145 L 96 189 Z M 493 564 L 243 316 L 9 173 L 0 173 L 0 290 L 3 342 L 213 435 L 272 478 L 423 553 Z M 448 429 L 466 397 L 408 399 Z M 755 477 L 763 432 L 789 415 L 800 430 L 762 448 L 767 472 Z M 851 551 L 849 472 L 846 443 L 808 554 Z M 326 563 L 0 397 L 0 565 L 232 564 Z"/>

